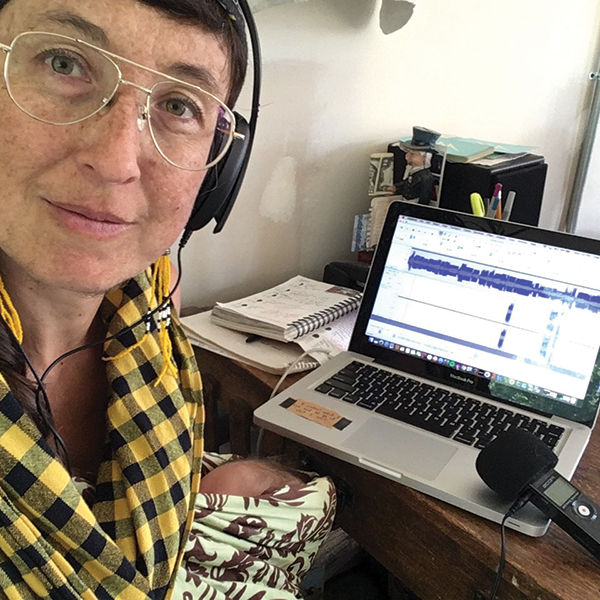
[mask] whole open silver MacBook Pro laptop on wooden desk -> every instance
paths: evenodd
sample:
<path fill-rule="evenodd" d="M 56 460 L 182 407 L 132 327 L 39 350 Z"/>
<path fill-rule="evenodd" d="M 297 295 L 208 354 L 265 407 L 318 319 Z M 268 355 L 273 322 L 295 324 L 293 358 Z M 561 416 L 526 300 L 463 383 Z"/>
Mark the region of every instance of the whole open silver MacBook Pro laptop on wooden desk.
<path fill-rule="evenodd" d="M 475 460 L 524 427 L 570 478 L 600 387 L 600 241 L 391 205 L 348 352 L 257 409 L 255 423 L 500 522 Z M 528 505 L 507 525 L 542 535 Z"/>

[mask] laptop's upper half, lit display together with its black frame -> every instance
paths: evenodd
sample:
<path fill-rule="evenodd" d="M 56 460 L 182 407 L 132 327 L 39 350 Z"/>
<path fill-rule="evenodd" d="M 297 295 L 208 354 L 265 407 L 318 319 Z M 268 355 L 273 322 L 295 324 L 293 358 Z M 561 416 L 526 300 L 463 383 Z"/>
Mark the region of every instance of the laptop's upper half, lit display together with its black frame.
<path fill-rule="evenodd" d="M 575 236 L 398 204 L 357 323 L 367 354 L 496 400 L 593 421 L 600 255 L 571 247 Z"/>

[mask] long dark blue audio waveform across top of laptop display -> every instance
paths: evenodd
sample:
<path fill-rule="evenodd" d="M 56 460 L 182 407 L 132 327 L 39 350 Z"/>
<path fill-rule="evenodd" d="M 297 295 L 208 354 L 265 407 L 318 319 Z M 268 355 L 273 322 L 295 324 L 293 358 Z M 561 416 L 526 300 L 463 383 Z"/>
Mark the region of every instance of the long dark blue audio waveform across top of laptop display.
<path fill-rule="evenodd" d="M 579 292 L 576 287 L 559 290 L 541 283 L 535 283 L 525 277 L 515 277 L 495 269 L 475 269 L 466 263 L 460 265 L 447 260 L 428 258 L 413 252 L 408 259 L 408 270 L 426 271 L 441 277 L 454 277 L 457 281 L 477 283 L 483 287 L 494 288 L 502 292 L 560 300 L 576 308 L 600 312 L 600 295 Z M 512 311 L 511 311 L 512 312 Z M 506 321 L 510 320 L 507 314 Z"/>

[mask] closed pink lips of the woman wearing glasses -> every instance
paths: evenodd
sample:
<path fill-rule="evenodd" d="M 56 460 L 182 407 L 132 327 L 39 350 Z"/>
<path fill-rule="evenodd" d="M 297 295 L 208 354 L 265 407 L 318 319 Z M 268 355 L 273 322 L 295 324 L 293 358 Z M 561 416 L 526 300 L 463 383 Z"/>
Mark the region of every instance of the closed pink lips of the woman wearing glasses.
<path fill-rule="evenodd" d="M 96 239 L 117 237 L 133 223 L 114 215 L 88 207 L 60 204 L 47 200 L 55 218 L 67 229 Z"/>

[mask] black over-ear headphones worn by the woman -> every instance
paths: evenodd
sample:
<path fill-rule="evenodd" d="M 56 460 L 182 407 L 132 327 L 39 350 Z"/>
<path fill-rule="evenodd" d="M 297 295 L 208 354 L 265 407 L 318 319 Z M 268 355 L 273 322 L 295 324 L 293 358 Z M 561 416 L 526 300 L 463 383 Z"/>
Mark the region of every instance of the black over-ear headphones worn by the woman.
<path fill-rule="evenodd" d="M 252 49 L 253 85 L 252 109 L 250 121 L 234 112 L 236 132 L 243 135 L 243 139 L 234 138 L 227 154 L 206 174 L 190 218 L 183 234 L 184 239 L 189 239 L 192 232 L 201 229 L 214 219 L 216 226 L 213 233 L 219 233 L 233 208 L 240 191 L 244 174 L 250 160 L 250 150 L 256 131 L 260 96 L 260 44 L 254 17 L 246 0 L 239 0 L 239 6 L 246 21 L 250 47 Z"/>

